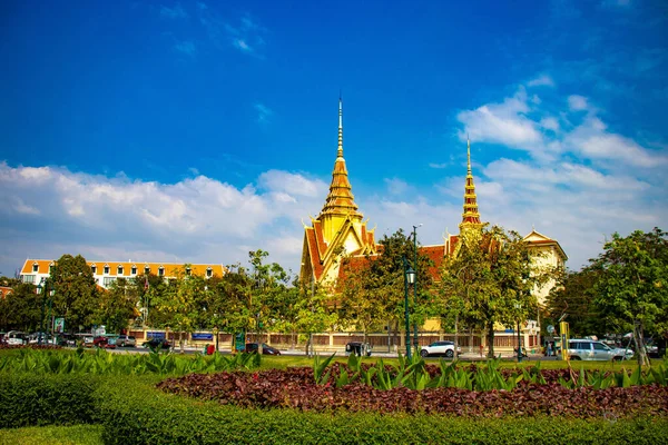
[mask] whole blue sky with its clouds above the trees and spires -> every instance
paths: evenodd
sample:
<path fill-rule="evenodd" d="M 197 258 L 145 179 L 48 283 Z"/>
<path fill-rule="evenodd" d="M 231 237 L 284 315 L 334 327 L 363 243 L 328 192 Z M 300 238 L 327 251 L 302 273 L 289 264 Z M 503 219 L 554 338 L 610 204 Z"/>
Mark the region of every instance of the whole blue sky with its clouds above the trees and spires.
<path fill-rule="evenodd" d="M 666 229 L 660 1 L 6 1 L 0 273 L 27 257 L 298 270 L 337 99 L 377 238 L 482 219 L 560 241 Z"/>

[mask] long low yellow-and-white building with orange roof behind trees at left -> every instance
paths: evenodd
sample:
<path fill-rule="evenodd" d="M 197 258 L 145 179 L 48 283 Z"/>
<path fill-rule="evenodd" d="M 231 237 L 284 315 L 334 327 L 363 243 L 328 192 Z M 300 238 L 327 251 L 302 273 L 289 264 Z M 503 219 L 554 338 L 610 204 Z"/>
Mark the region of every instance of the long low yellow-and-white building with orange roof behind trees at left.
<path fill-rule="evenodd" d="M 118 278 L 135 278 L 143 275 L 157 275 L 158 277 L 175 278 L 178 270 L 184 267 L 176 263 L 145 263 L 145 261 L 86 261 L 90 266 L 92 277 L 98 286 L 107 289 Z M 52 259 L 27 259 L 21 268 L 21 280 L 37 285 L 51 274 L 51 267 L 56 265 Z M 212 278 L 222 277 L 226 268 L 215 264 L 193 264 L 186 268 L 186 274 L 193 274 Z"/>

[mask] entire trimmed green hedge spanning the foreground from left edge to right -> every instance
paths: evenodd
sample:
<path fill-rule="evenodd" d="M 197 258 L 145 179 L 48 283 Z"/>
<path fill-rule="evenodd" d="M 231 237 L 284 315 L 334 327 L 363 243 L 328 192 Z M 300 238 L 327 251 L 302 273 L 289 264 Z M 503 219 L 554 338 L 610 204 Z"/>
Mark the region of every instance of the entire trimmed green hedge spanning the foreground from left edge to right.
<path fill-rule="evenodd" d="M 668 418 L 460 419 L 242 409 L 160 393 L 159 378 L 0 374 L 1 427 L 101 423 L 106 444 L 657 444 Z"/>

